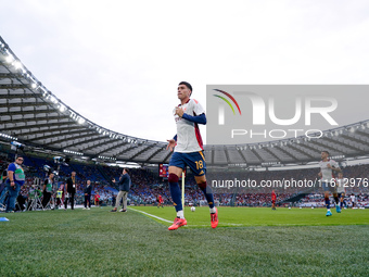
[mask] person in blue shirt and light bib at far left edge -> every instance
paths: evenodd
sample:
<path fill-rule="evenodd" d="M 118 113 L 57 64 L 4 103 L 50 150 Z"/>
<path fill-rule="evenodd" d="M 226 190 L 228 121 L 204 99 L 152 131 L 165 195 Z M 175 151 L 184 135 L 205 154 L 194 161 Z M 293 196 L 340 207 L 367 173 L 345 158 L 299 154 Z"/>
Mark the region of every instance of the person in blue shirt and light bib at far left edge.
<path fill-rule="evenodd" d="M 23 164 L 23 156 L 18 155 L 15 159 L 14 163 L 11 163 L 8 167 L 8 179 L 7 179 L 7 187 L 9 197 L 7 201 L 7 213 L 13 213 L 15 209 L 15 201 L 21 191 L 21 187 L 23 186 L 26 176 L 22 168 Z"/>

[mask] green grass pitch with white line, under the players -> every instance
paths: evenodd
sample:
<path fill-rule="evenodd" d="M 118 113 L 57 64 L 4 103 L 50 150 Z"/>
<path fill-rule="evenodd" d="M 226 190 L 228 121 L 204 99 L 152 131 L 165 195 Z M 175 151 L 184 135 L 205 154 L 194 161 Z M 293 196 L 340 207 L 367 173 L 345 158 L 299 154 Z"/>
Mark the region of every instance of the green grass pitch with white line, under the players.
<path fill-rule="evenodd" d="M 174 207 L 0 214 L 0 276 L 368 276 L 369 210 Z M 136 210 L 136 211 L 135 211 Z"/>

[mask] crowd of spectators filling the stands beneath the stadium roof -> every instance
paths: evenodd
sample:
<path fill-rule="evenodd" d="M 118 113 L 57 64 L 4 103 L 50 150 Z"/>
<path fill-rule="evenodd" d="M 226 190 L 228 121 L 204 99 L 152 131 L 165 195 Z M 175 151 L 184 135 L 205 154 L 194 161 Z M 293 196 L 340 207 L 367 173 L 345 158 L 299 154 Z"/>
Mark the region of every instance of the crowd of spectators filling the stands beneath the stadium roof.
<path fill-rule="evenodd" d="M 0 167 L 7 168 L 8 164 L 14 161 L 13 154 L 1 153 Z M 112 204 L 118 190 L 112 182 L 112 179 L 116 180 L 122 174 L 120 167 L 113 167 L 107 165 L 96 164 L 77 164 L 71 163 L 68 166 L 64 164 L 55 165 L 52 159 L 30 158 L 25 156 L 25 171 L 26 181 L 22 187 L 21 194 L 24 199 L 29 198 L 29 191 L 38 189 L 43 179 L 46 178 L 44 165 L 49 165 L 58 171 L 58 177 L 55 181 L 54 196 L 58 188 L 65 185 L 65 179 L 71 176 L 71 173 L 75 171 L 77 173 L 77 192 L 76 203 L 81 204 L 84 202 L 84 189 L 87 180 L 92 182 L 92 198 L 96 193 L 100 194 L 101 204 Z M 346 166 L 343 169 L 344 177 L 352 179 L 368 178 L 369 164 Z M 309 169 L 294 169 L 294 171 L 244 171 L 244 172 L 209 172 L 207 174 L 208 184 L 212 186 L 213 180 L 252 180 L 253 184 L 259 185 L 263 180 L 317 180 L 318 168 Z M 128 194 L 128 203 L 136 205 L 155 205 L 157 203 L 158 196 L 162 196 L 164 204 L 170 205 L 171 199 L 168 189 L 168 184 L 165 179 L 158 177 L 157 173 L 148 168 L 133 168 L 130 169 L 129 175 L 131 177 L 132 186 Z M 271 190 L 277 192 L 277 202 L 281 202 L 298 194 L 306 190 L 305 187 L 267 187 L 267 188 L 247 188 L 244 189 L 214 189 L 215 201 L 219 205 L 237 205 L 237 206 L 264 206 L 269 205 L 271 202 Z M 366 203 L 368 201 L 368 186 L 353 186 L 347 191 L 348 193 L 355 193 L 358 197 L 358 201 Z M 361 193 L 361 194 L 360 194 Z M 316 203 L 320 205 L 322 196 L 319 191 L 311 191 L 310 194 L 300 201 L 304 203 Z M 206 203 L 204 194 L 198 188 L 194 178 L 190 172 L 186 177 L 186 204 L 199 205 Z M 322 202 L 321 202 L 322 203 Z"/>

